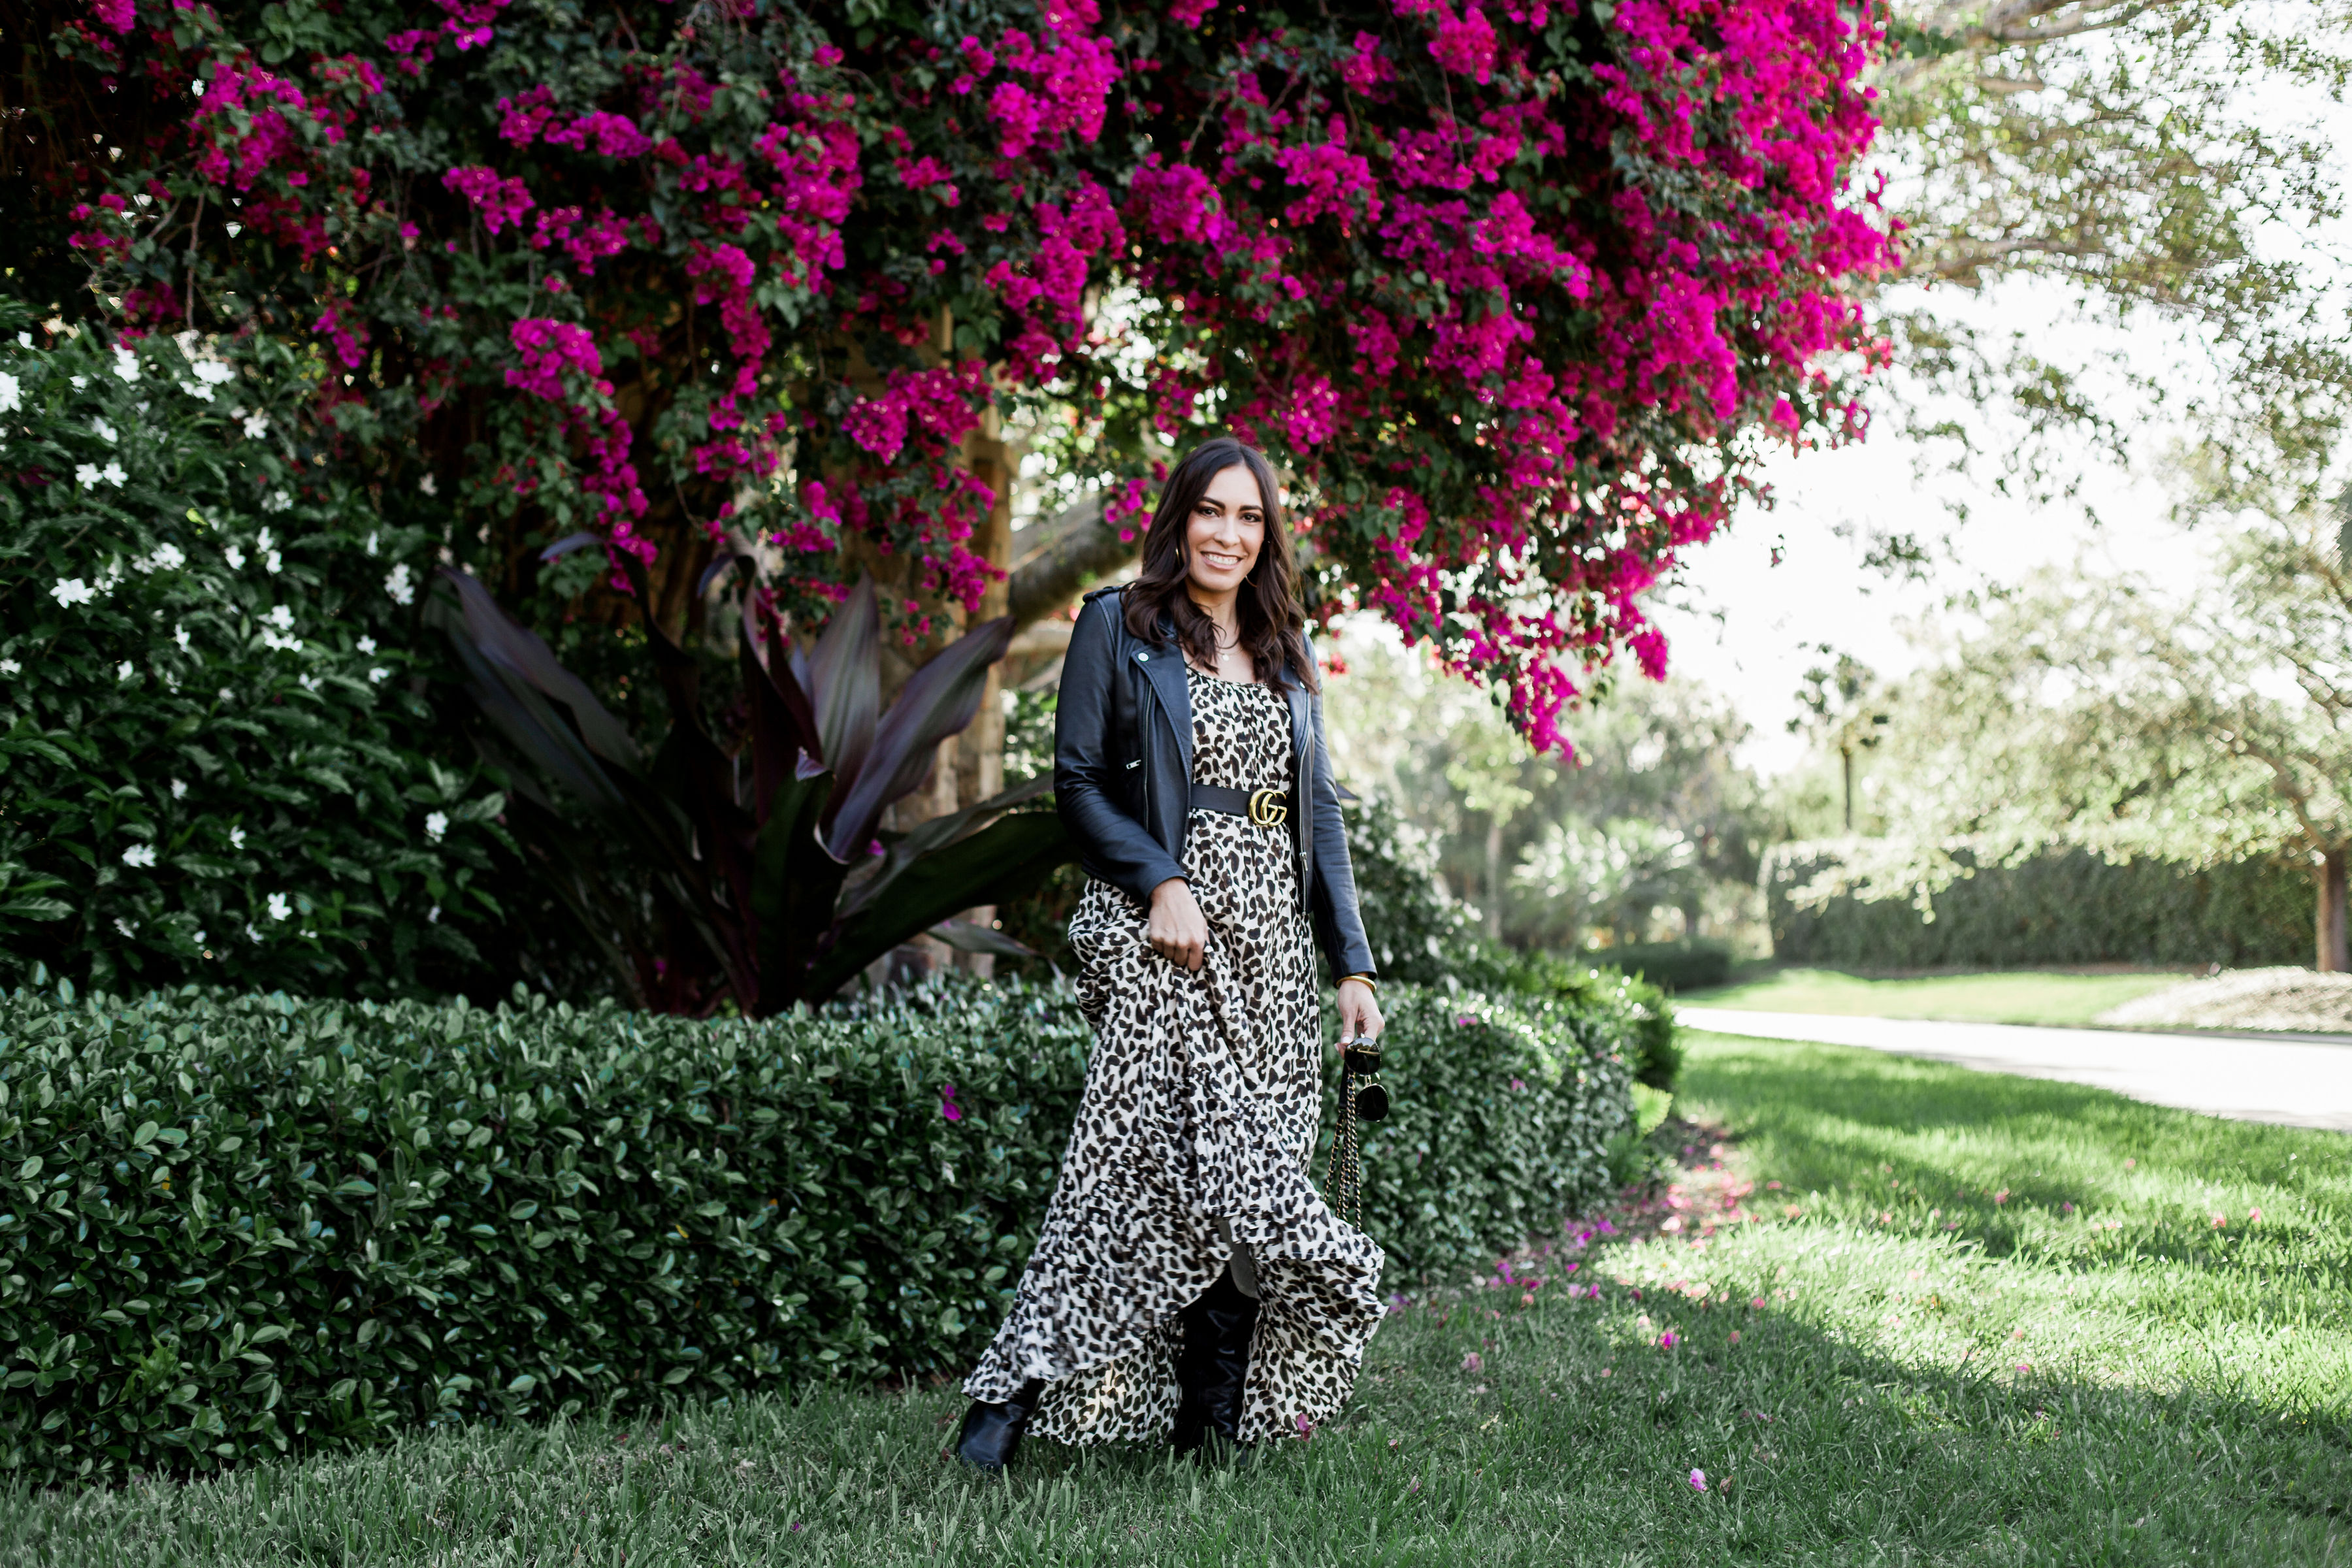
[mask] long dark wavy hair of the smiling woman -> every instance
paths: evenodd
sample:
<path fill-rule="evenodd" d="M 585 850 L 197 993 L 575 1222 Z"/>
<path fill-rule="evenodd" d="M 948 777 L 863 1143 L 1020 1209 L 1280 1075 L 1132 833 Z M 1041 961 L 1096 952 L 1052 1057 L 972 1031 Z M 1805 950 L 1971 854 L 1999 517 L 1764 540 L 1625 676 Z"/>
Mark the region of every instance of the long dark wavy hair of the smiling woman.
<path fill-rule="evenodd" d="M 1176 642 L 1200 665 L 1216 668 L 1216 623 L 1192 602 L 1192 552 L 1185 531 L 1192 508 L 1200 505 L 1209 482 L 1228 468 L 1247 468 L 1258 482 L 1265 510 L 1265 543 L 1258 545 L 1258 564 L 1242 578 L 1235 595 L 1235 621 L 1249 663 L 1265 684 L 1282 684 L 1287 677 L 1317 691 L 1315 661 L 1308 656 L 1305 609 L 1298 604 L 1298 559 L 1291 555 L 1291 522 L 1282 512 L 1282 491 L 1275 487 L 1275 470 L 1254 447 L 1244 447 L 1230 435 L 1218 435 L 1185 454 L 1176 473 L 1160 487 L 1160 505 L 1152 510 L 1152 527 L 1143 534 L 1143 571 L 1122 595 L 1127 602 L 1127 630 L 1145 642 L 1160 642 L 1162 628 L 1176 628 Z"/>

